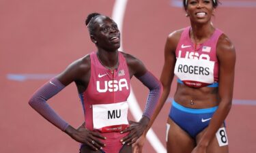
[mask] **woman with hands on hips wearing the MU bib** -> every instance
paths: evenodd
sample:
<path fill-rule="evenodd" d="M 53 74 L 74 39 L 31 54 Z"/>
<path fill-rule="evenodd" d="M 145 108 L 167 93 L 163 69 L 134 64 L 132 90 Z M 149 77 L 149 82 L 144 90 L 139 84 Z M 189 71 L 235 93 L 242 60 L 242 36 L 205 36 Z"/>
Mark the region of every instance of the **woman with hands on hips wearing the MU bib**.
<path fill-rule="evenodd" d="M 130 153 L 131 144 L 143 134 L 154 112 L 162 85 L 139 59 L 119 52 L 120 32 L 108 16 L 92 13 L 87 28 L 97 51 L 74 61 L 65 71 L 46 82 L 29 100 L 46 120 L 81 144 L 80 152 Z M 130 79 L 139 79 L 150 93 L 139 122 L 128 121 Z M 85 123 L 74 129 L 46 103 L 75 82 L 83 105 Z M 130 122 L 130 124 L 129 124 Z"/>

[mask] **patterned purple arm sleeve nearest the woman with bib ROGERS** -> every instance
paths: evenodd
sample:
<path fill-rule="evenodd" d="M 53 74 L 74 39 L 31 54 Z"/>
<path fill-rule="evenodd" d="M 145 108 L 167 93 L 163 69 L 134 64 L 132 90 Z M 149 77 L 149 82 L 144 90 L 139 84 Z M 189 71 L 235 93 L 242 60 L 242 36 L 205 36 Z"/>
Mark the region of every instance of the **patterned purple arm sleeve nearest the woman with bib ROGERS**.
<path fill-rule="evenodd" d="M 147 118 L 151 118 L 154 110 L 156 108 L 156 104 L 162 94 L 162 84 L 160 81 L 152 74 L 150 71 L 147 71 L 144 75 L 138 78 L 147 88 L 150 89 L 150 93 L 147 96 L 147 104 L 145 105 L 145 109 L 143 112 L 143 116 L 147 116 Z"/>

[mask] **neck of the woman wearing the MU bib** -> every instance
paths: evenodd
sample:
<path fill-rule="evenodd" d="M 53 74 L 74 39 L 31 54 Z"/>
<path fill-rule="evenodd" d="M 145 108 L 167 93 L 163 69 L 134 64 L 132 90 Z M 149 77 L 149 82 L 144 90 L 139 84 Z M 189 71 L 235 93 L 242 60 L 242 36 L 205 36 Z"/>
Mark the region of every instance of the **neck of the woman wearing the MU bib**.
<path fill-rule="evenodd" d="M 117 69 L 119 65 L 118 52 L 100 51 L 96 53 L 100 63 L 107 69 Z"/>

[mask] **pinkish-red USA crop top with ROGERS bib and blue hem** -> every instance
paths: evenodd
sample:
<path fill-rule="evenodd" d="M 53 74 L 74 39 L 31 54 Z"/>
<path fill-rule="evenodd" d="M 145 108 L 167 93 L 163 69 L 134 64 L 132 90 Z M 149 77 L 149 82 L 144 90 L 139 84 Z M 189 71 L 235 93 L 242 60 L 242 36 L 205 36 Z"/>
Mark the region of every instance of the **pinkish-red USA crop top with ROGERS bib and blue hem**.
<path fill-rule="evenodd" d="M 176 63 L 174 73 L 178 83 L 200 88 L 203 86 L 218 86 L 218 58 L 216 44 L 223 34 L 216 29 L 210 39 L 195 48 L 190 39 L 190 27 L 182 32 L 180 41 L 175 50 Z"/>

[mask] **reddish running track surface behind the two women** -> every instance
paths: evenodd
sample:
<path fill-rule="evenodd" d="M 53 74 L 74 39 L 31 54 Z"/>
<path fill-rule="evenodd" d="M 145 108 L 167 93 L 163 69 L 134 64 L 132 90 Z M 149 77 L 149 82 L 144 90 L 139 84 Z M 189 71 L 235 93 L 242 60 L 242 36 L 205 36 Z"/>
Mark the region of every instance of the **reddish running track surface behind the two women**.
<path fill-rule="evenodd" d="M 79 143 L 38 115 L 27 101 L 46 80 L 16 82 L 8 73 L 59 73 L 72 61 L 95 50 L 84 20 L 90 12 L 111 16 L 114 0 L 87 1 L 1 1 L 0 5 L 0 152 L 78 152 Z M 124 50 L 143 61 L 157 77 L 163 65 L 167 35 L 188 26 L 188 18 L 170 0 L 128 1 L 122 32 Z M 233 41 L 237 51 L 234 99 L 256 100 L 255 7 L 219 7 L 213 22 Z M 146 56 L 145 56 L 146 55 Z M 141 107 L 147 90 L 132 79 Z M 173 84 L 170 97 L 173 96 Z M 74 84 L 49 101 L 72 126 L 83 122 L 83 110 Z M 165 122 L 170 103 L 160 112 L 154 131 L 165 144 Z M 233 105 L 227 118 L 232 153 L 256 150 L 256 106 Z M 154 149 L 145 144 L 144 152 Z"/>

